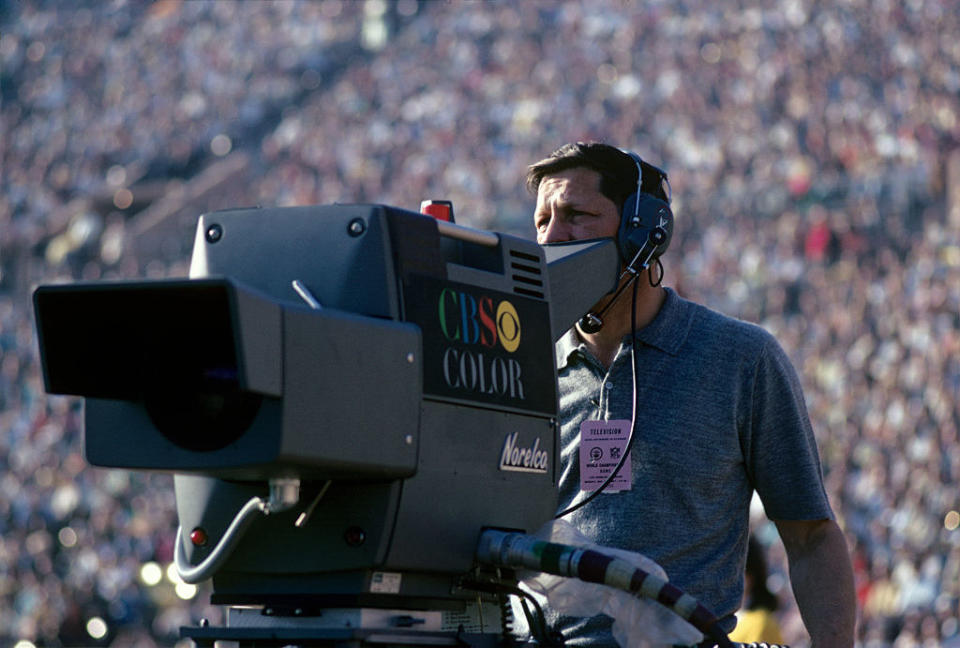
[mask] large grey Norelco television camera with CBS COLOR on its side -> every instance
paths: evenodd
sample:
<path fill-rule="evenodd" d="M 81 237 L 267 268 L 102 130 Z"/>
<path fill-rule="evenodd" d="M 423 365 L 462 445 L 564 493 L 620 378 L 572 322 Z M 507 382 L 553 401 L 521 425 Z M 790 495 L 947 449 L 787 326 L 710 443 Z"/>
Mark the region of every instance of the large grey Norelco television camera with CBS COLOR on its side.
<path fill-rule="evenodd" d="M 200 217 L 189 278 L 34 295 L 94 466 L 174 474 L 198 644 L 505 645 L 490 531 L 557 503 L 553 343 L 612 240 L 541 247 L 383 205 Z"/>

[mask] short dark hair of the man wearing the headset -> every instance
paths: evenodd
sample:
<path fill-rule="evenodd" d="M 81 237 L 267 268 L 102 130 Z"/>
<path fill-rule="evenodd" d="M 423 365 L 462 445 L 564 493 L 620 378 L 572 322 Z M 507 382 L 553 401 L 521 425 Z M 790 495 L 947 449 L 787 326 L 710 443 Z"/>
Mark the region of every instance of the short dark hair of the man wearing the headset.
<path fill-rule="evenodd" d="M 646 162 L 642 165 L 641 191 L 666 201 L 660 173 Z M 637 163 L 627 153 L 602 142 L 564 144 L 548 157 L 531 164 L 527 167 L 527 189 L 536 194 L 544 176 L 581 167 L 600 174 L 600 193 L 618 209 L 622 209 L 630 194 L 637 190 Z"/>

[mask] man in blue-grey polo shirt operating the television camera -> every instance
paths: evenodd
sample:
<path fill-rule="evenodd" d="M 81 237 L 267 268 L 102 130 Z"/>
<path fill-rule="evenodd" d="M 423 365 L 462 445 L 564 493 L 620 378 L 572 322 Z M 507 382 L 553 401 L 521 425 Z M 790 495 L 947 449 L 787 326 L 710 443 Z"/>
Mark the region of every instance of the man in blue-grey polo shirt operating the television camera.
<path fill-rule="evenodd" d="M 644 163 L 642 191 L 666 201 L 662 178 L 649 170 Z M 616 236 L 637 184 L 638 162 L 617 148 L 561 147 L 528 169 L 537 241 Z M 635 337 L 631 287 L 604 313 L 598 332 L 577 325 L 557 343 L 561 510 L 596 487 L 581 474 L 584 426 L 619 421 L 629 428 L 636 399 L 635 439 L 622 471 L 629 481 L 567 519 L 597 544 L 657 561 L 729 632 L 742 600 L 756 490 L 786 547 L 812 645 L 853 646 L 850 558 L 794 369 L 764 329 L 689 302 L 661 287 L 658 276 L 651 266 L 637 280 Z M 569 645 L 613 644 L 605 617 L 559 623 Z"/>

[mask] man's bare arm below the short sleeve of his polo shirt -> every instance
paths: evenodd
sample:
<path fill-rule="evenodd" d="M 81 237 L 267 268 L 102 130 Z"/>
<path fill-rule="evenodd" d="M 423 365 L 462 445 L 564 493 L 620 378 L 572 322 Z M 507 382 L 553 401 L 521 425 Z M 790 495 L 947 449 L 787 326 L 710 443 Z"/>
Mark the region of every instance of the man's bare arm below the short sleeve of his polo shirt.
<path fill-rule="evenodd" d="M 813 648 L 854 644 L 857 600 L 843 531 L 833 520 L 774 520 L 790 563 L 790 583 Z"/>

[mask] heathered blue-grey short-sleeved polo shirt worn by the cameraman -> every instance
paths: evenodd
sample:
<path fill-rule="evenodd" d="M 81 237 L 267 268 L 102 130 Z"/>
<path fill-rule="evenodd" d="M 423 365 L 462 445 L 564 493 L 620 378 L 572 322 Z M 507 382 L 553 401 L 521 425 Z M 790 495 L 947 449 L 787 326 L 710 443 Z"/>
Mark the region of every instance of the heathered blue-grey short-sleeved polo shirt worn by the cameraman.
<path fill-rule="evenodd" d="M 759 326 L 666 290 L 660 312 L 636 335 L 631 488 L 602 493 L 567 519 L 600 545 L 658 562 L 678 587 L 729 615 L 729 630 L 743 592 L 754 490 L 772 519 L 833 513 L 800 383 L 780 345 Z M 556 350 L 562 510 L 581 497 L 581 424 L 629 420 L 634 385 L 629 335 L 609 371 L 575 330 Z M 563 629 L 589 639 L 572 644 L 613 643 L 601 619 L 565 620 Z"/>

